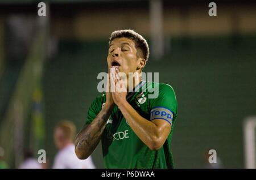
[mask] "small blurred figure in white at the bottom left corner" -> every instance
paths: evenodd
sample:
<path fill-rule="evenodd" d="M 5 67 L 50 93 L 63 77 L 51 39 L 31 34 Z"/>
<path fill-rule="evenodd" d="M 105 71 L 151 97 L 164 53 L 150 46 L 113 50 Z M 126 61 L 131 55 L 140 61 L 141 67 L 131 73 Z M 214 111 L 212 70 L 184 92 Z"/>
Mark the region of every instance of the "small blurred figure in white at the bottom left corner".
<path fill-rule="evenodd" d="M 42 165 L 34 157 L 31 151 L 24 151 L 24 161 L 19 165 L 19 169 L 42 169 Z"/>

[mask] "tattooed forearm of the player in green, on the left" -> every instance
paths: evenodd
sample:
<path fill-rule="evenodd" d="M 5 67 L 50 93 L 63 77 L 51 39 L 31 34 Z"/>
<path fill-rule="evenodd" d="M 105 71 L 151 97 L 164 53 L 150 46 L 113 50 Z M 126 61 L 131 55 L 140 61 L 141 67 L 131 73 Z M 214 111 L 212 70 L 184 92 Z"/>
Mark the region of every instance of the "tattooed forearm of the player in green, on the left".
<path fill-rule="evenodd" d="M 102 132 L 106 126 L 106 121 L 113 110 L 113 105 L 105 105 L 97 117 L 86 127 L 84 127 L 75 139 L 75 152 L 80 159 L 89 157 L 100 142 Z"/>

